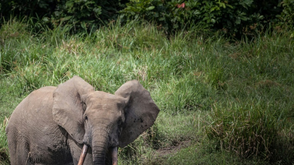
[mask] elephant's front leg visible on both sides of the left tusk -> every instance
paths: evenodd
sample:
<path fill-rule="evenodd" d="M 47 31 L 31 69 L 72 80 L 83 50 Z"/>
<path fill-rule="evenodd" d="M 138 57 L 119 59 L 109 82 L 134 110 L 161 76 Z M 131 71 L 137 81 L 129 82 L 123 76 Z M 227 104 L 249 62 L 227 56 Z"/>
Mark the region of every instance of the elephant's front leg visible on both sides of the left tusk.
<path fill-rule="evenodd" d="M 73 164 L 77 165 L 83 150 L 84 144 L 77 143 L 74 139 L 71 137 L 67 140 L 68 146 L 71 151 L 71 156 L 73 159 Z M 92 156 L 92 148 L 88 147 L 87 155 L 84 161 L 83 165 L 92 165 L 93 164 L 93 156 Z"/>

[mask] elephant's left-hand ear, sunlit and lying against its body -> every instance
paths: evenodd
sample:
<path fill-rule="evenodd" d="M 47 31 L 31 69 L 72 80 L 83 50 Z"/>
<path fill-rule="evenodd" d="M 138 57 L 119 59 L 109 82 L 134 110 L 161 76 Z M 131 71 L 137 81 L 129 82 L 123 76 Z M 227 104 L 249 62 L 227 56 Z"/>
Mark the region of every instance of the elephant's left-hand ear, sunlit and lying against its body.
<path fill-rule="evenodd" d="M 84 139 L 84 100 L 81 98 L 94 88 L 79 76 L 74 76 L 57 86 L 53 92 L 53 119 L 72 138 L 82 144 Z M 83 108 L 84 107 L 84 108 Z"/>

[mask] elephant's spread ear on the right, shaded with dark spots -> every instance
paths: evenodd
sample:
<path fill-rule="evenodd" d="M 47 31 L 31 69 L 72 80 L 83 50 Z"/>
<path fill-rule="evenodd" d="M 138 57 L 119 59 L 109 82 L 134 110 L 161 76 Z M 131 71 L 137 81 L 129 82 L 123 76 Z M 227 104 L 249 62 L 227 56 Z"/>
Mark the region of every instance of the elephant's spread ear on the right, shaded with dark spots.
<path fill-rule="evenodd" d="M 119 146 L 125 147 L 154 124 L 159 108 L 150 93 L 137 80 L 123 84 L 115 95 L 126 98 L 128 102 L 124 110 L 123 130 L 119 137 Z"/>

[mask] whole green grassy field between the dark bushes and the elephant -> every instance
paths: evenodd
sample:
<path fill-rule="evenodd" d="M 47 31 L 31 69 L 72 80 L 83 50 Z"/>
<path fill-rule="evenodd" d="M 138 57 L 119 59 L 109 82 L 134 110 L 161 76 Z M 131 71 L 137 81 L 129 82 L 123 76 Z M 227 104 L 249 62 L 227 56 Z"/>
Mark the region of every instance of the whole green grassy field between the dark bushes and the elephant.
<path fill-rule="evenodd" d="M 69 35 L 67 26 L 9 20 L 0 29 L 0 164 L 9 164 L 5 116 L 74 75 L 109 93 L 137 79 L 161 109 L 119 149 L 120 164 L 291 164 L 293 57 L 285 29 L 235 41 L 197 27 L 167 37 L 137 21 Z"/>

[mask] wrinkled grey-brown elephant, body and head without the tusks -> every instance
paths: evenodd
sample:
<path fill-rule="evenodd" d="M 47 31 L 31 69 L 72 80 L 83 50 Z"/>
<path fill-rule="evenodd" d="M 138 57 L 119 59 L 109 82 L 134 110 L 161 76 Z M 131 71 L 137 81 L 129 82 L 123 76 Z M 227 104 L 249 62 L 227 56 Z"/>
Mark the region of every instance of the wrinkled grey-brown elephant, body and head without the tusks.
<path fill-rule="evenodd" d="M 124 147 L 150 128 L 159 109 L 137 81 L 115 94 L 94 91 L 78 76 L 58 87 L 33 91 L 14 110 L 6 127 L 11 165 L 109 164 L 110 149 Z"/>

